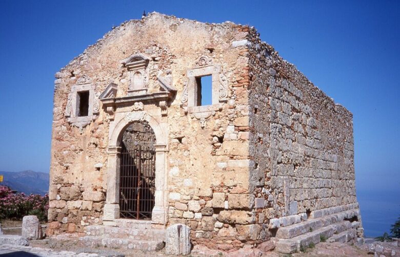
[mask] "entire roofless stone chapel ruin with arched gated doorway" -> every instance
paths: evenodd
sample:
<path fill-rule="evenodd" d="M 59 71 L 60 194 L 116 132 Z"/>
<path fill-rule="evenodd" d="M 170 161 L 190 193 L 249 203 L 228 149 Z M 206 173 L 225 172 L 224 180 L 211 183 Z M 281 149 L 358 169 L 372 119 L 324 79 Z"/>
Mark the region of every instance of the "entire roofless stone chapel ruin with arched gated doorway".
<path fill-rule="evenodd" d="M 48 235 L 157 250 L 182 224 L 194 249 L 362 241 L 352 114 L 254 28 L 151 13 L 55 77 Z"/>

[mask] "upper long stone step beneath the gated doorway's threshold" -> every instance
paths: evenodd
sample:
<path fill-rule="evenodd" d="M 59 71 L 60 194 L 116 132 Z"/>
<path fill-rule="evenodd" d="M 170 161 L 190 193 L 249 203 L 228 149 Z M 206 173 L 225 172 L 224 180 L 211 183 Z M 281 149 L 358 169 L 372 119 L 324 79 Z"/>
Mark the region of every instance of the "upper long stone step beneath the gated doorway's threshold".
<path fill-rule="evenodd" d="M 164 229 L 139 229 L 103 225 L 87 226 L 86 234 L 104 238 L 141 239 L 149 241 L 164 241 L 165 239 Z"/>

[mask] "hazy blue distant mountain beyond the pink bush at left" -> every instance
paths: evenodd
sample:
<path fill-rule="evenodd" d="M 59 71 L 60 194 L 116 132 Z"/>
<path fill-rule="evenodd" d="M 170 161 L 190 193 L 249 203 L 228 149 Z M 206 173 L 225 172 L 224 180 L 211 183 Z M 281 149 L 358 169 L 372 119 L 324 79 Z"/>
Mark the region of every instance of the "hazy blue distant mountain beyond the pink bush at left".
<path fill-rule="evenodd" d="M 4 180 L 0 185 L 25 194 L 45 195 L 49 191 L 49 174 L 24 170 L 23 172 L 0 172 Z"/>

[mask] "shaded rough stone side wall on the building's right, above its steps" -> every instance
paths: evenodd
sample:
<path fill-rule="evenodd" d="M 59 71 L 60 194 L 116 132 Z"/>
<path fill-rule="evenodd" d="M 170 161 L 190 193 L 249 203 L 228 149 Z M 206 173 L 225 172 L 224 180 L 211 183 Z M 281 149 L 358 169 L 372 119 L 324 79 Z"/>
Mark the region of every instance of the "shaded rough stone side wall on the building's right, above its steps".
<path fill-rule="evenodd" d="M 259 240 L 270 219 L 356 203 L 352 114 L 335 104 L 255 29 L 250 52 L 250 191 Z"/>

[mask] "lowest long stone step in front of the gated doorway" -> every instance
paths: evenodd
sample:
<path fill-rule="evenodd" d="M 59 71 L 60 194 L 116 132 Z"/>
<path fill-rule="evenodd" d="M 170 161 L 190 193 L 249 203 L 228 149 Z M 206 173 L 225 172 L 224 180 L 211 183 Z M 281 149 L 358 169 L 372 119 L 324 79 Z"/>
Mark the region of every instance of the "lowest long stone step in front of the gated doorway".
<path fill-rule="evenodd" d="M 164 248 L 164 242 L 138 240 L 138 239 L 123 239 L 123 238 L 104 238 L 93 235 L 85 235 L 79 238 L 87 247 L 108 247 L 112 249 L 134 249 L 141 251 L 158 251 Z"/>

